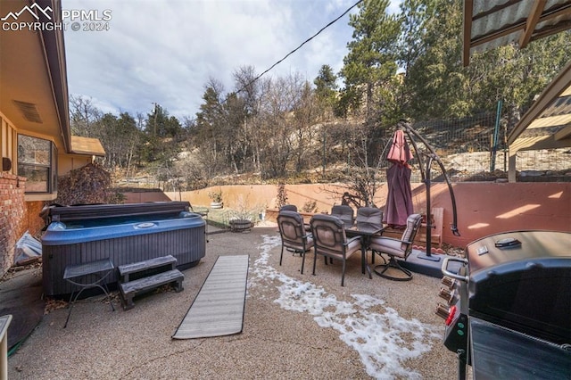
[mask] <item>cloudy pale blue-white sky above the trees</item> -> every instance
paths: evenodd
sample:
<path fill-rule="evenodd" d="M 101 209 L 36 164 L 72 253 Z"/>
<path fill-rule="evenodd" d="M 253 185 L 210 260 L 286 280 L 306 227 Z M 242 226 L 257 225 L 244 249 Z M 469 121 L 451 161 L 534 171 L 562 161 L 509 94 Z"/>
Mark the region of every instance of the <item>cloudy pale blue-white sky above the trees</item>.
<path fill-rule="evenodd" d="M 233 73 L 268 70 L 357 0 L 62 0 L 68 87 L 103 112 L 153 112 L 194 118 L 215 78 L 225 94 Z M 400 1 L 393 0 L 392 12 Z M 353 8 L 355 13 L 357 8 Z M 79 30 L 71 28 L 79 22 Z M 301 74 L 310 83 L 322 65 L 338 72 L 352 39 L 349 14 L 262 78 Z M 100 30 L 89 30 L 89 28 Z M 87 30 L 86 30 L 87 29 Z"/>

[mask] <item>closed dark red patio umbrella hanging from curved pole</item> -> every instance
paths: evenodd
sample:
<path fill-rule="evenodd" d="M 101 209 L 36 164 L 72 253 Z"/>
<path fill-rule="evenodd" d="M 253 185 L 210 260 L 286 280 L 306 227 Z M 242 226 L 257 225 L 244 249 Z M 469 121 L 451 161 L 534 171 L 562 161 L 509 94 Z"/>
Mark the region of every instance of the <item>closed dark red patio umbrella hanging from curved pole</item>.
<path fill-rule="evenodd" d="M 386 170 L 388 194 L 383 221 L 390 227 L 403 228 L 407 224 L 407 218 L 413 213 L 413 207 L 409 165 L 412 153 L 402 130 L 394 132 L 393 142 L 386 158 L 393 162 L 393 165 Z"/>

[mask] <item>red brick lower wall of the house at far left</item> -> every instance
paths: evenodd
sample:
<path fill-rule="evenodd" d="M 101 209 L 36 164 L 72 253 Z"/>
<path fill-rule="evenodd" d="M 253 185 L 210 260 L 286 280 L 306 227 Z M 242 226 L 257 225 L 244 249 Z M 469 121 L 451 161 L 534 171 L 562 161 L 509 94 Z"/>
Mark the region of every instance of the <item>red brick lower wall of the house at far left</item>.
<path fill-rule="evenodd" d="M 26 178 L 0 173 L 0 277 L 14 260 L 14 245 L 26 231 Z"/>

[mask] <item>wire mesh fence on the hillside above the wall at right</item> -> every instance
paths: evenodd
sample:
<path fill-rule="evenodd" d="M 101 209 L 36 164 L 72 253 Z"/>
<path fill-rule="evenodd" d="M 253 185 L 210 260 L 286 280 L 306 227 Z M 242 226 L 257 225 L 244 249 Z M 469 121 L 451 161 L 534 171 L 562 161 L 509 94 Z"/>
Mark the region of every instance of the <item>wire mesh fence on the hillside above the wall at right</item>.
<path fill-rule="evenodd" d="M 421 121 L 413 128 L 434 148 L 451 181 L 489 181 L 508 178 L 505 142 L 510 128 L 504 122 L 496 123 L 496 119 L 495 113 L 481 113 L 462 119 Z M 426 152 L 421 142 L 415 142 L 421 153 Z M 571 181 L 567 174 L 571 173 L 571 149 L 517 152 L 516 162 L 518 181 Z M 411 180 L 420 182 L 416 156 L 410 165 Z M 389 166 L 390 162 L 381 162 L 382 169 Z M 435 161 L 431 173 L 434 182 L 443 181 L 442 170 Z"/>

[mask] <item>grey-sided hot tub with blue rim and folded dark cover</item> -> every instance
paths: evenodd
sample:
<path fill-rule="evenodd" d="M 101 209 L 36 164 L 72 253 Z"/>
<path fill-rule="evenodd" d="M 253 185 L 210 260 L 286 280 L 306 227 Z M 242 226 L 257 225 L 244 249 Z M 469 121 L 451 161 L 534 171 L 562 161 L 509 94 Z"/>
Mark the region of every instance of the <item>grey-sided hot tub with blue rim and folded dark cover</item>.
<path fill-rule="evenodd" d="M 194 267 L 206 252 L 206 223 L 188 202 L 53 207 L 42 236 L 44 293 L 69 294 L 65 267 L 110 258 L 115 267 L 172 255 L 179 269 Z M 117 273 L 106 278 L 114 285 Z M 112 286 L 113 287 L 113 286 Z"/>

